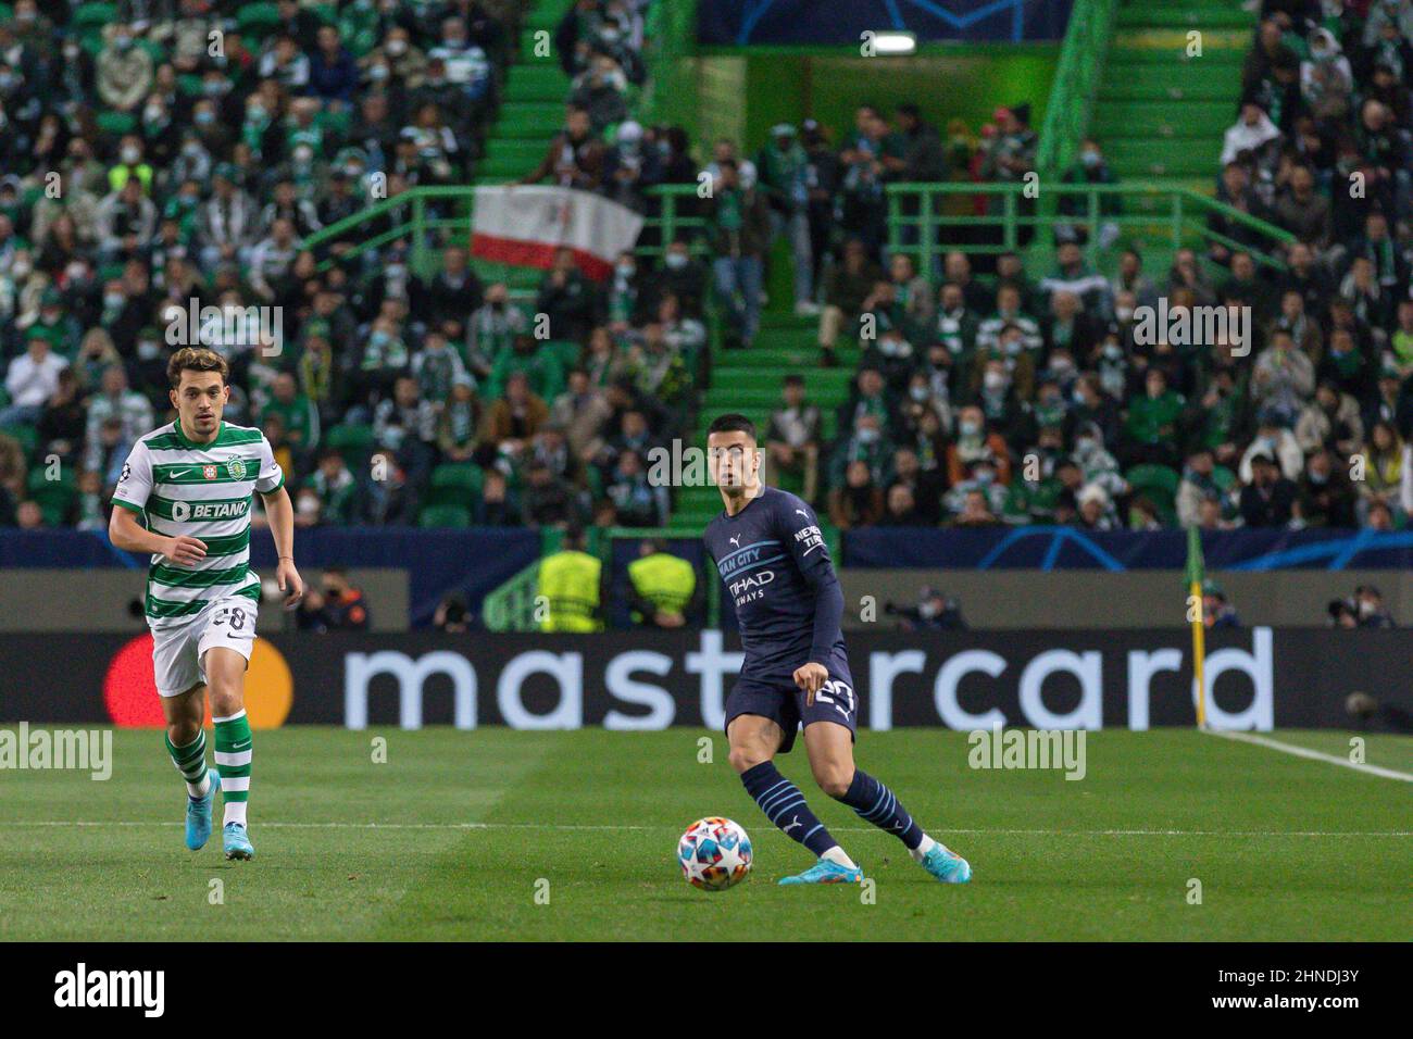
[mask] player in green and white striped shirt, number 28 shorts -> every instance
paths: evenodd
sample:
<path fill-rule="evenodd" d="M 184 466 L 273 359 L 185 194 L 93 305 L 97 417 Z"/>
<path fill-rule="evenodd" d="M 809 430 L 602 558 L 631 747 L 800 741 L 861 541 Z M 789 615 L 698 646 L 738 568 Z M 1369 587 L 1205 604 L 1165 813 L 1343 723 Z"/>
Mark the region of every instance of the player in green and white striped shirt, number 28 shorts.
<path fill-rule="evenodd" d="M 254 492 L 264 500 L 287 609 L 304 595 L 294 568 L 294 506 L 264 434 L 220 421 L 230 399 L 225 358 L 209 349 L 179 349 L 167 376 L 177 421 L 133 445 L 113 492 L 117 507 L 109 537 L 119 548 L 153 557 L 147 625 L 167 717 L 167 751 L 187 780 L 187 847 L 205 847 L 220 790 L 226 858 L 253 858 L 246 831 L 252 741 L 244 683 L 260 578 L 250 570 L 250 503 Z M 208 688 L 215 769 L 206 768 L 202 728 Z"/>

